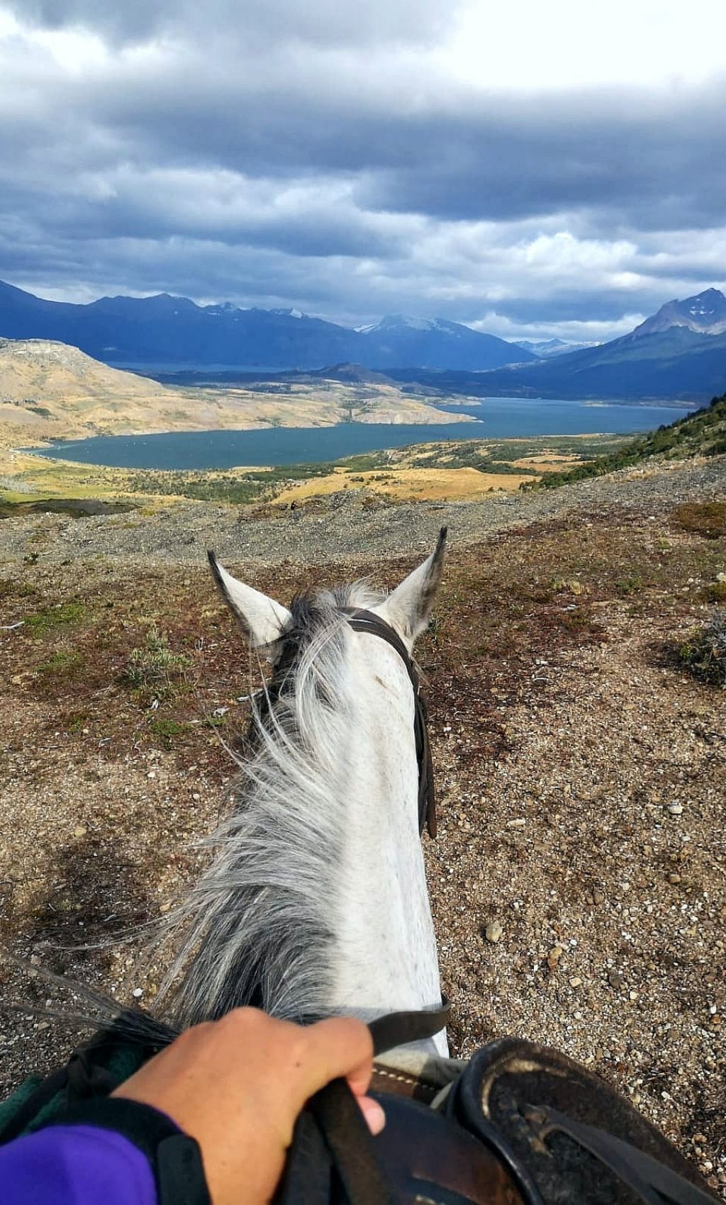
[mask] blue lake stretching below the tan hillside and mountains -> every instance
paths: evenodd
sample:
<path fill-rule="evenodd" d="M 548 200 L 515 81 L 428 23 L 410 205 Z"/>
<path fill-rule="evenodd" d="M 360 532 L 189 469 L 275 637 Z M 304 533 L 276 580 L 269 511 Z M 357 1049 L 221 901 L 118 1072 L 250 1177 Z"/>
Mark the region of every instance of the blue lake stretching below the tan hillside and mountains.
<path fill-rule="evenodd" d="M 338 427 L 274 427 L 254 431 L 99 435 L 90 440 L 55 443 L 45 448 L 41 454 L 116 469 L 233 469 L 235 465 L 310 464 L 440 440 L 598 433 L 626 435 L 652 430 L 691 412 L 687 406 L 626 406 L 540 401 L 529 398 L 482 398 L 481 401 L 462 406 L 437 405 L 439 410 L 463 412 L 480 421 L 429 425 L 341 423 Z"/>

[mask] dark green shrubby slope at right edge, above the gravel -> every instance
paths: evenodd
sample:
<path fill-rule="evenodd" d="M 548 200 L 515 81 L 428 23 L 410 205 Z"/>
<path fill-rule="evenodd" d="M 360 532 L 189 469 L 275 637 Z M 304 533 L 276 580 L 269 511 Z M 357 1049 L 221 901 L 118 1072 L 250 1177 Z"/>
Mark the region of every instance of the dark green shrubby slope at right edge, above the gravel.
<path fill-rule="evenodd" d="M 709 406 L 667 427 L 631 440 L 608 455 L 596 457 L 567 472 L 554 472 L 538 484 L 545 488 L 562 486 L 584 477 L 602 477 L 617 469 L 628 469 L 644 460 L 685 460 L 690 457 L 712 457 L 726 453 L 726 393 L 714 398 Z"/>

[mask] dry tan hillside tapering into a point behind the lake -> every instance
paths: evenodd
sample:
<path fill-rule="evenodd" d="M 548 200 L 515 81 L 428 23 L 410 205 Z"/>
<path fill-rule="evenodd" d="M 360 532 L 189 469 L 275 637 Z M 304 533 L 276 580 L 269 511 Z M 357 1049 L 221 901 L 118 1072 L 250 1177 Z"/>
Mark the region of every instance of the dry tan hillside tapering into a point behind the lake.
<path fill-rule="evenodd" d="M 178 388 L 111 369 L 65 343 L 0 340 L 0 446 L 219 428 L 452 421 L 466 416 L 435 410 L 393 383 L 320 380 L 283 393 Z"/>

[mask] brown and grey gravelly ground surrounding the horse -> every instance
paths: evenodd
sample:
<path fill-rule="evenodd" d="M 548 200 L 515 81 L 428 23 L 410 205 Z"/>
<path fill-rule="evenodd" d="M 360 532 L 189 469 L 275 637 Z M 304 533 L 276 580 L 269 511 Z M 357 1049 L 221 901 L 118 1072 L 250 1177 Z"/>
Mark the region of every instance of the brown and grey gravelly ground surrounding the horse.
<path fill-rule="evenodd" d="M 347 498 L 242 522 L 207 505 L 0 522 L 12 583 L 0 624 L 39 599 L 82 598 L 95 617 L 75 643 L 0 631 L 0 936 L 119 1000 L 152 1000 L 159 969 L 139 958 L 141 927 L 194 875 L 189 851 L 230 782 L 216 734 L 189 716 L 224 705 L 244 721 L 233 704 L 246 663 L 205 547 L 244 556 L 286 600 L 349 566 L 391 584 L 449 522 L 421 660 L 440 817 L 425 852 L 452 1053 L 505 1034 L 560 1047 L 628 1094 L 726 1199 L 726 692 L 663 654 L 726 571 L 726 534 L 684 530 L 674 507 L 724 500 L 725 486 L 721 459 L 469 506 Z M 183 715 L 144 710 L 118 686 L 150 617 L 193 651 Z M 52 651 L 75 647 L 86 676 L 51 681 Z M 171 747 L 150 735 L 162 713 L 185 721 Z M 133 930 L 127 945 L 64 948 L 118 927 Z M 0 994 L 63 1000 L 12 969 Z M 8 1089 L 57 1063 L 69 1035 L 8 1013 L 0 1041 Z"/>

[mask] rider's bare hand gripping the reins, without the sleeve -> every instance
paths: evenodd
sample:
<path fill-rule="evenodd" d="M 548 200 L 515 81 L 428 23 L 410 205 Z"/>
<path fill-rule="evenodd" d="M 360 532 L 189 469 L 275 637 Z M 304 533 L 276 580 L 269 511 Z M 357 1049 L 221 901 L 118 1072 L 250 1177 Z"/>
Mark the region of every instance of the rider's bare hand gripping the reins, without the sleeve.
<path fill-rule="evenodd" d="M 212 1205 L 263 1205 L 277 1187 L 305 1101 L 344 1077 L 371 1133 L 370 1031 L 352 1017 L 294 1025 L 257 1009 L 187 1029 L 112 1093 L 152 1105 L 195 1138 Z"/>

